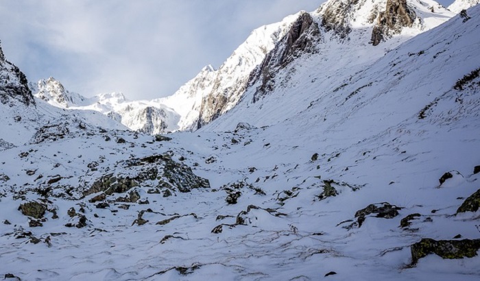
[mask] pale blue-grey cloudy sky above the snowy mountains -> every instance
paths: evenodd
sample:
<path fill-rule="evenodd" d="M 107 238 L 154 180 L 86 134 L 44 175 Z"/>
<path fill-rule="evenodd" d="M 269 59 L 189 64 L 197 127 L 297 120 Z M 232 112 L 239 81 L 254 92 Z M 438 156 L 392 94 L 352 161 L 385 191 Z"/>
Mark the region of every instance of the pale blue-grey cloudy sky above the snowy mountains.
<path fill-rule="evenodd" d="M 256 27 L 323 2 L 1 0 L 0 39 L 29 81 L 53 76 L 86 97 L 154 99 L 207 64 L 218 68 Z"/>

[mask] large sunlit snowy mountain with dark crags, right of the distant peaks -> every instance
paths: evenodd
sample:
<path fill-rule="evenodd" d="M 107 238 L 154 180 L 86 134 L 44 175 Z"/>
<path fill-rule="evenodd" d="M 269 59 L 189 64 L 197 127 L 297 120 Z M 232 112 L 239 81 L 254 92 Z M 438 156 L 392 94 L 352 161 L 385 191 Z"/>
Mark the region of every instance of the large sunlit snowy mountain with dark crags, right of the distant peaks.
<path fill-rule="evenodd" d="M 209 73 L 208 78 L 200 73 L 187 84 L 202 81 L 205 86 L 196 92 L 195 87 L 182 88 L 175 94 L 185 95 L 182 91 L 187 90 L 190 97 L 195 93 L 197 99 L 189 123 L 182 124 L 180 130 L 195 130 L 217 119 L 235 108 L 252 88 L 256 88 L 251 99 L 255 103 L 278 84 L 276 73 L 301 56 L 305 60 L 308 56 L 324 56 L 331 60 L 326 63 L 327 69 L 333 67 L 333 71 L 350 66 L 352 60 L 356 64 L 372 62 L 388 49 L 453 15 L 435 1 L 327 1 L 315 12 L 300 12 L 280 24 L 256 29 L 218 71 Z M 263 42 L 257 37 L 272 40 Z M 242 64 L 243 60 L 252 63 Z M 289 76 L 280 81 L 287 84 Z M 197 121 L 193 122 L 196 112 Z"/>

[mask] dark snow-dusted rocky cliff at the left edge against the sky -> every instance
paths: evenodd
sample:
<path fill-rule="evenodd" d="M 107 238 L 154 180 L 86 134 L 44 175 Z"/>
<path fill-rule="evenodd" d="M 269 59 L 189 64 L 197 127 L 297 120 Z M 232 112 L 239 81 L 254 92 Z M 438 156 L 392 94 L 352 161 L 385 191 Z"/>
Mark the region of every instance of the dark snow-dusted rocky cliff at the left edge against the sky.
<path fill-rule="evenodd" d="M 0 102 L 5 104 L 11 99 L 21 101 L 25 106 L 35 106 L 27 77 L 17 66 L 5 60 L 0 46 Z"/>

